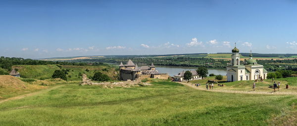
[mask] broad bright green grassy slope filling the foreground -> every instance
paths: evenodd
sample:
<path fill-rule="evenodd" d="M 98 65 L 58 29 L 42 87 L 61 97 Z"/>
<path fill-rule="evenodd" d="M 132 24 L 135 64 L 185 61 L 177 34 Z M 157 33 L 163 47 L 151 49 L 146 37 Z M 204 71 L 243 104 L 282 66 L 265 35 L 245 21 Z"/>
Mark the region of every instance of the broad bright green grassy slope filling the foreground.
<path fill-rule="evenodd" d="M 46 94 L 0 104 L 1 126 L 259 126 L 268 125 L 296 96 L 225 94 L 173 82 L 102 89 L 66 85 Z M 28 106 L 22 109 L 18 107 Z M 28 118 L 30 117 L 30 118 Z"/>

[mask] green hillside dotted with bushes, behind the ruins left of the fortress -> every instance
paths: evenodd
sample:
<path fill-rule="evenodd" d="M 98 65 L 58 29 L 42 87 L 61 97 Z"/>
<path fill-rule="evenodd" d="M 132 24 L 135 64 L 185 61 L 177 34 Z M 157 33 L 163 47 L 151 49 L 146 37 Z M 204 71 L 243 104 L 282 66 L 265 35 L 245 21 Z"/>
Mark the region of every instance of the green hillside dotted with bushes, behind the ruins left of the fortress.
<path fill-rule="evenodd" d="M 79 72 L 86 73 L 89 77 L 91 77 L 97 71 L 107 74 L 113 80 L 117 79 L 117 72 L 115 71 L 115 68 L 108 65 L 62 65 L 62 68 L 59 68 L 57 65 L 14 65 L 13 68 L 18 69 L 22 78 L 33 78 L 40 80 L 50 79 L 51 75 L 56 69 L 69 69 L 67 75 L 67 79 L 69 81 L 80 81 L 81 76 L 78 76 Z M 89 69 L 90 71 L 86 71 L 86 69 Z"/>

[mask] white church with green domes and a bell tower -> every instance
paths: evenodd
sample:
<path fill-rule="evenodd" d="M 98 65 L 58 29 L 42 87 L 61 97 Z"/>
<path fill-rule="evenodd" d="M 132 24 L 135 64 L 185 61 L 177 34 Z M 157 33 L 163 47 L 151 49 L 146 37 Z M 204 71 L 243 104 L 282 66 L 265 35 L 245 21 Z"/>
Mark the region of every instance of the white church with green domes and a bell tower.
<path fill-rule="evenodd" d="M 227 66 L 227 81 L 260 80 L 266 79 L 266 77 L 267 70 L 263 68 L 263 65 L 252 59 L 251 51 L 249 59 L 244 64 L 240 64 L 239 49 L 235 45 L 232 50 L 231 63 Z"/>

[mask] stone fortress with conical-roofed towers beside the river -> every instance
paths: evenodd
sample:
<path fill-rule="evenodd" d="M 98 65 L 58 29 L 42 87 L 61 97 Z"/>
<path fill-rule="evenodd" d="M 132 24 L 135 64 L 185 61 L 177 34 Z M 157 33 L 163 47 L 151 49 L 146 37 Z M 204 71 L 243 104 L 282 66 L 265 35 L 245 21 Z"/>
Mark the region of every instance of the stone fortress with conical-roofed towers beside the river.
<path fill-rule="evenodd" d="M 131 60 L 128 61 L 127 64 L 123 65 L 121 63 L 119 79 L 121 81 L 127 80 L 137 80 L 137 79 L 145 79 L 145 78 L 158 78 L 158 79 L 168 79 L 170 76 L 167 73 L 159 73 L 153 63 L 150 66 L 141 66 L 134 64 Z"/>

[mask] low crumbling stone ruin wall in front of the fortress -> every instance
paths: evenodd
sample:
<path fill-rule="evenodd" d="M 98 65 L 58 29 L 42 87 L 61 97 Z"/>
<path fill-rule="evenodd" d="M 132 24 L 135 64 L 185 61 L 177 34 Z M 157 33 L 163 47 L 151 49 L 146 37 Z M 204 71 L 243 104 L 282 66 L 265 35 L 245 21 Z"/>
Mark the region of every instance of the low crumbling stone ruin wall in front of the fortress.
<path fill-rule="evenodd" d="M 83 81 L 80 85 L 99 85 L 102 86 L 103 88 L 114 88 L 114 87 L 125 87 L 125 88 L 130 88 L 130 87 L 140 87 L 140 86 L 150 86 L 151 84 L 149 83 L 142 83 L 141 78 L 138 78 L 134 81 L 127 80 L 127 81 L 122 81 L 122 82 L 102 82 L 102 83 L 93 83 L 91 79 L 87 77 L 86 74 L 83 74 L 82 77 Z"/>

